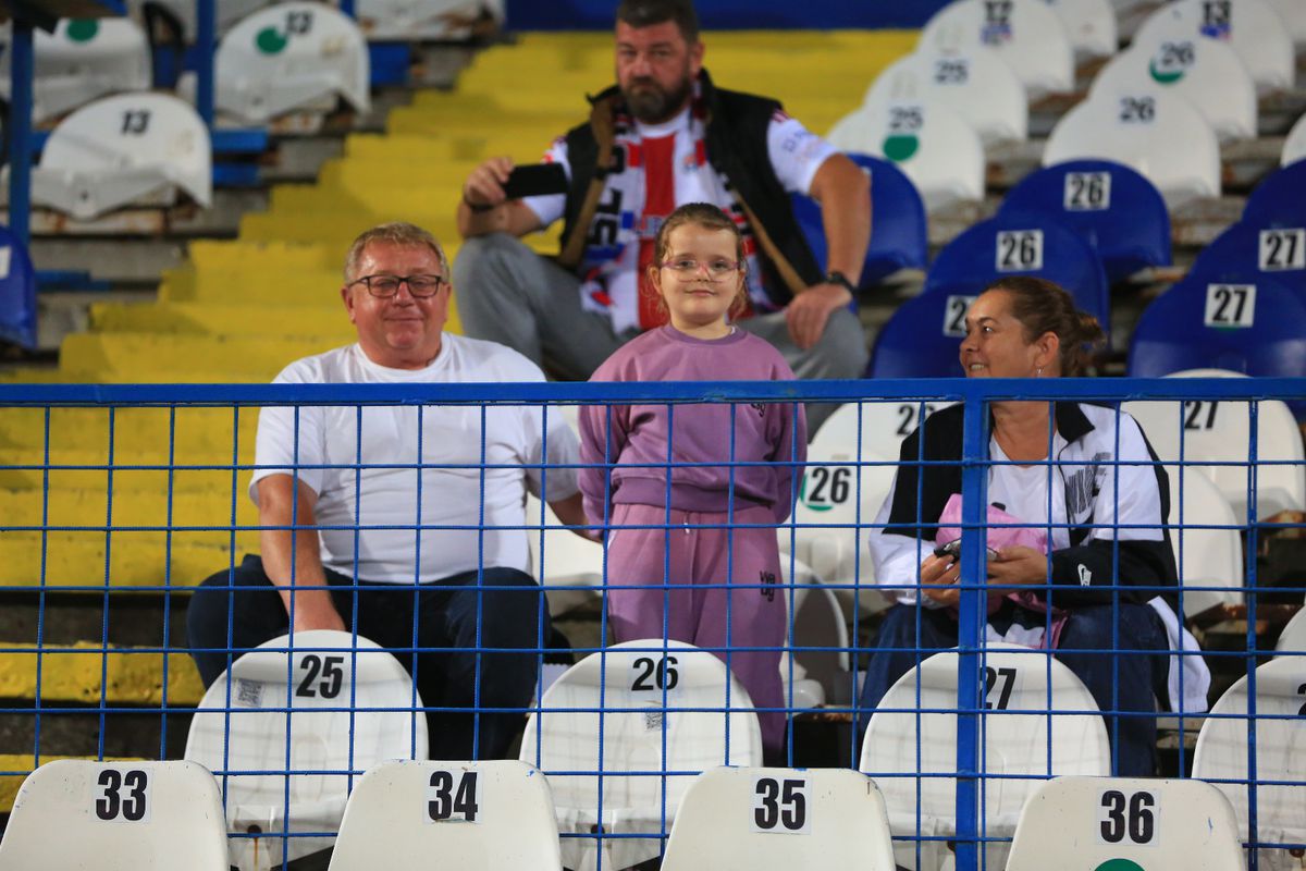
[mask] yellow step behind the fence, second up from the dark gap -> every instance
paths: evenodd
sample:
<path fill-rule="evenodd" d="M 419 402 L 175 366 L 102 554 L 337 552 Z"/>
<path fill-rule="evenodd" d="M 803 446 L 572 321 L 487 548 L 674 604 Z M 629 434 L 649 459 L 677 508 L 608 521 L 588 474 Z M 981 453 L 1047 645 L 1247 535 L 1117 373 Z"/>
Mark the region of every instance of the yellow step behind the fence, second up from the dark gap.
<path fill-rule="evenodd" d="M 116 474 L 114 475 L 118 477 Z M 231 526 L 232 507 L 239 526 L 253 526 L 259 512 L 248 498 L 249 473 L 227 475 L 225 486 L 209 491 L 112 490 L 104 486 L 86 490 L 40 488 L 0 490 L 0 517 L 7 528 L 77 526 L 77 528 L 154 528 Z M 171 518 L 171 520 L 170 520 Z"/>

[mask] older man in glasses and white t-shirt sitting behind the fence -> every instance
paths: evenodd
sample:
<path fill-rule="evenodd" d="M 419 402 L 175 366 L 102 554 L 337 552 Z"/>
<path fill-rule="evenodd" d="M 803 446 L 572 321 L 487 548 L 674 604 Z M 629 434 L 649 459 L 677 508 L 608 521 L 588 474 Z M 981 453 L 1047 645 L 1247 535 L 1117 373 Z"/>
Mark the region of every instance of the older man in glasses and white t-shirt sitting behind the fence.
<path fill-rule="evenodd" d="M 296 360 L 276 383 L 542 381 L 521 354 L 443 332 L 448 274 L 424 230 L 368 230 L 350 249 L 341 289 L 358 342 Z M 539 406 L 263 409 L 249 484 L 261 558 L 218 572 L 192 597 L 187 623 L 201 676 L 213 683 L 231 657 L 290 627 L 353 626 L 409 650 L 397 656 L 422 701 L 444 709 L 427 714 L 434 759 L 502 756 L 520 714 L 481 714 L 477 729 L 470 712 L 449 709 L 529 704 L 537 654 L 478 648 L 547 642 L 524 504 L 529 490 L 582 525 L 568 467 L 576 461 L 575 434 L 560 415 L 546 427 Z"/>

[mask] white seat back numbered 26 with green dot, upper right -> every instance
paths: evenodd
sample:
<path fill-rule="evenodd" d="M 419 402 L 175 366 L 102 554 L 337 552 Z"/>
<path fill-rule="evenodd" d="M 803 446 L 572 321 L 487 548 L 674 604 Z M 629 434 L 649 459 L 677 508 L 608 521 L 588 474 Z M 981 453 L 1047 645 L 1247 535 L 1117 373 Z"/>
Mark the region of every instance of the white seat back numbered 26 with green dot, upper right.
<path fill-rule="evenodd" d="M 1093 80 L 1097 94 L 1173 91 L 1221 141 L 1256 138 L 1256 85 L 1233 48 L 1203 37 L 1138 38 Z"/>

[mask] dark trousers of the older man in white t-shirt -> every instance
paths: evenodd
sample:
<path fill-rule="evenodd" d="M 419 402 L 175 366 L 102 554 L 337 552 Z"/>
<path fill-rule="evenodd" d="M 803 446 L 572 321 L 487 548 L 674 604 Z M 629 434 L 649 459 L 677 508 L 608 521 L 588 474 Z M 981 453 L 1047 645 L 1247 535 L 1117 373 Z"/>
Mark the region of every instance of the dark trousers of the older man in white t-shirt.
<path fill-rule="evenodd" d="M 333 589 L 332 598 L 346 626 L 393 650 L 415 676 L 422 703 L 428 709 L 516 709 L 481 714 L 427 710 L 431 759 L 503 759 L 525 722 L 522 709 L 530 705 L 534 695 L 538 650 L 545 646 L 541 639 L 550 636 L 549 611 L 542 610 L 543 593 L 529 575 L 512 568 L 487 568 L 483 578 L 483 585 L 478 586 L 477 573 L 465 572 L 419 589 L 359 581 L 355 611 L 353 581 L 326 572 L 330 586 L 343 588 Z M 234 609 L 230 623 L 229 609 Z M 230 661 L 246 649 L 290 631 L 281 595 L 257 556 L 246 556 L 230 575 L 223 571 L 204 581 L 191 597 L 185 620 L 191 656 L 205 686 L 217 680 Z M 452 650 L 414 653 L 414 646 Z M 516 648 L 529 653 L 477 653 L 478 646 Z M 479 740 L 473 756 L 477 734 Z"/>

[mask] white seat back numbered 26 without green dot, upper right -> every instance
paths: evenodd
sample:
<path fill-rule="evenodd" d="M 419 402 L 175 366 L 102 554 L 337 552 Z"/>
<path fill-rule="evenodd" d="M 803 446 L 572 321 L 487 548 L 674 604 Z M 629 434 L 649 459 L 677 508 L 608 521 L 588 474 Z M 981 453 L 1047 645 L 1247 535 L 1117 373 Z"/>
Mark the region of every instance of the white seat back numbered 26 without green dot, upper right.
<path fill-rule="evenodd" d="M 1093 158 L 1138 171 L 1171 209 L 1220 196 L 1220 142 L 1202 112 L 1178 94 L 1100 93 L 1066 112 L 1047 137 L 1043 166 Z"/>

